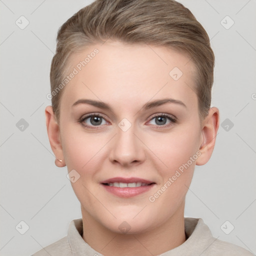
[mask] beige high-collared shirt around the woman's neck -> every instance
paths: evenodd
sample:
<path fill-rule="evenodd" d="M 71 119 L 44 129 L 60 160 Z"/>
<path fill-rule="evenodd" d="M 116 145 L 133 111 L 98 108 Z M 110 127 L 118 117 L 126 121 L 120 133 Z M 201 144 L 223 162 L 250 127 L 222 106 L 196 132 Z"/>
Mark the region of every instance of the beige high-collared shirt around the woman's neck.
<path fill-rule="evenodd" d="M 186 239 L 160 256 L 250 256 L 249 251 L 214 238 L 201 218 L 184 218 Z M 70 222 L 67 236 L 42 248 L 32 256 L 102 256 L 82 239 L 82 219 Z M 137 256 L 137 255 L 136 255 Z"/>

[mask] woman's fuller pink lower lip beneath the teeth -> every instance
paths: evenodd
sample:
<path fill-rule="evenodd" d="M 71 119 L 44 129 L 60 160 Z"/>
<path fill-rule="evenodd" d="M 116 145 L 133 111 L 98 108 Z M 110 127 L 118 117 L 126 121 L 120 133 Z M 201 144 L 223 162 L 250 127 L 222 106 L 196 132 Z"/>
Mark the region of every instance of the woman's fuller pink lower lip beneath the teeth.
<path fill-rule="evenodd" d="M 116 187 L 101 184 L 108 192 L 120 197 L 131 197 L 150 190 L 155 184 L 137 187 Z"/>

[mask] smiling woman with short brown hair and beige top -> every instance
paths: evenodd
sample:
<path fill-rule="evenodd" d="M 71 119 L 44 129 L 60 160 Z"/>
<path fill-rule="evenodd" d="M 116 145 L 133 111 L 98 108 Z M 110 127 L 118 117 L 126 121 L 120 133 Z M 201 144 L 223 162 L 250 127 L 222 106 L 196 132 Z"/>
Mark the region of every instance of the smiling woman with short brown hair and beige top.
<path fill-rule="evenodd" d="M 173 0 L 96 0 L 59 29 L 45 109 L 55 164 L 81 203 L 41 255 L 252 255 L 184 218 L 213 151 L 214 54 Z"/>

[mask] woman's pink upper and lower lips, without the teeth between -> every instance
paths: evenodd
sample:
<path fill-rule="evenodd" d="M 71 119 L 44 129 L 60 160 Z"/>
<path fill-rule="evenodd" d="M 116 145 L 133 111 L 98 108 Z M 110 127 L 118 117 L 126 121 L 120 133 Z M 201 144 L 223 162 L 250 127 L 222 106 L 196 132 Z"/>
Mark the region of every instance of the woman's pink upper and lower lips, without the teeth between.
<path fill-rule="evenodd" d="M 148 185 L 137 186 L 137 187 L 115 187 L 115 186 L 108 186 L 108 185 L 104 184 L 104 183 L 110 183 L 110 182 L 112 182 L 112 183 L 113 182 L 123 182 L 123 183 L 141 182 L 141 183 L 146 183 Z M 132 196 L 136 196 L 138 194 L 141 194 L 141 193 L 144 193 L 144 192 L 150 190 L 156 184 L 153 181 L 143 179 L 143 178 L 114 177 L 114 178 L 109 178 L 109 179 L 103 180 L 101 182 L 101 185 L 103 186 L 104 189 L 106 189 L 106 191 L 108 191 L 114 195 L 117 195 L 119 197 L 132 197 Z"/>

